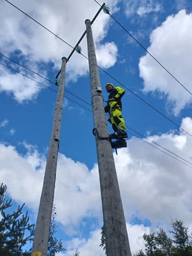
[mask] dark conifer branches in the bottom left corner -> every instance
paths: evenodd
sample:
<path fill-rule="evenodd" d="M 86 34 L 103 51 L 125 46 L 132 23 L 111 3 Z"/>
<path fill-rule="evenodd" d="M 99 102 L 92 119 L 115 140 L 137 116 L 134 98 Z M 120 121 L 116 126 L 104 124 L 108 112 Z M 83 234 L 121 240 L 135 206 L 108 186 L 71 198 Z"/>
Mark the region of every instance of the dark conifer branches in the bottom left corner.
<path fill-rule="evenodd" d="M 29 223 L 28 212 L 22 213 L 23 206 L 9 213 L 12 200 L 6 200 L 4 194 L 6 185 L 0 187 L 0 255 L 3 256 L 28 256 L 29 251 L 23 251 L 29 241 L 32 241 L 34 224 Z"/>

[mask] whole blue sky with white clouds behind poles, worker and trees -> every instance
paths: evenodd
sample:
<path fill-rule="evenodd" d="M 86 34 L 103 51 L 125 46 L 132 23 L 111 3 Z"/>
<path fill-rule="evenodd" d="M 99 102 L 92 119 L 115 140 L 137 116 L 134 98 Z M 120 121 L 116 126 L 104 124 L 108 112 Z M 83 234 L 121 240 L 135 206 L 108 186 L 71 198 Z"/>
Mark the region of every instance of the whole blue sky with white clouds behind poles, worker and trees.
<path fill-rule="evenodd" d="M 98 3 L 102 5 L 94 0 L 75 6 L 68 0 L 14 1 L 61 40 L 8 1 L 0 3 L 0 182 L 8 186 L 7 195 L 15 204 L 26 203 L 33 223 L 55 110 L 55 76 L 61 57 L 69 56 L 86 29 L 85 20 L 99 10 Z M 144 248 L 142 234 L 159 226 L 169 230 L 171 217 L 192 230 L 192 3 L 106 4 L 115 19 L 101 12 L 92 28 L 104 100 L 108 82 L 126 92 L 122 103 L 128 147 L 114 158 L 135 253 Z M 88 56 L 86 37 L 80 45 Z M 76 248 L 84 256 L 104 255 L 99 247 L 103 223 L 90 78 L 83 55 L 73 53 L 66 66 L 55 188 L 57 235 L 67 256 Z"/>

